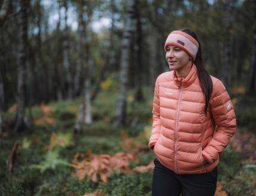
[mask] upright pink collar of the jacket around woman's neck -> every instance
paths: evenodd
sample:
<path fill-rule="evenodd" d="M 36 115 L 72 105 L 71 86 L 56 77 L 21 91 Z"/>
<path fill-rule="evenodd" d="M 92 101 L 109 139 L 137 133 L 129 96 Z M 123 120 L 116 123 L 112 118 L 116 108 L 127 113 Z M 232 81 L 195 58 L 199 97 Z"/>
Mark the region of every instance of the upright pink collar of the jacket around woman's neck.
<path fill-rule="evenodd" d="M 173 80 L 174 83 L 177 86 L 180 86 L 182 84 L 183 87 L 188 87 L 191 86 L 191 84 L 195 81 L 197 77 L 197 72 L 196 72 L 196 65 L 193 64 L 191 70 L 189 71 L 189 74 L 186 76 L 186 78 L 178 78 L 176 75 L 176 71 L 173 71 Z"/>

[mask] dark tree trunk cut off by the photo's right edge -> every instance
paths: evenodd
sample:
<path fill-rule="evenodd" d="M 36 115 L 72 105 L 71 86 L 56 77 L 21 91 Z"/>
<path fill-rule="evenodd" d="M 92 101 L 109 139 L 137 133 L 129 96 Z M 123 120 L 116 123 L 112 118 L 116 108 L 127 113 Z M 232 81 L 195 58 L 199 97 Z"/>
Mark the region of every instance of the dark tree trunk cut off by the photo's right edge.
<path fill-rule="evenodd" d="M 253 1 L 254 18 L 256 19 L 256 0 Z M 247 88 L 247 94 L 255 96 L 255 75 L 256 75 L 256 23 L 254 23 L 253 45 L 251 53 L 251 69 L 249 75 L 249 83 Z"/>

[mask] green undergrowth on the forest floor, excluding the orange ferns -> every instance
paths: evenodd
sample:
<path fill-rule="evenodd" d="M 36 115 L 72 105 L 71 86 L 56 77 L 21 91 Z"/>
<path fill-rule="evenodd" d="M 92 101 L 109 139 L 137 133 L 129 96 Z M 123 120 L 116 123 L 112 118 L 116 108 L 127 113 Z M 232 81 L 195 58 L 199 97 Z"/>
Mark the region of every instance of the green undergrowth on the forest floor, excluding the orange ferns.
<path fill-rule="evenodd" d="M 1 137 L 0 195 L 83 195 L 95 189 L 107 195 L 151 195 L 152 172 L 114 172 L 108 183 L 102 184 L 87 178 L 83 181 L 71 178 L 74 169 L 68 165 L 76 153 L 115 154 L 124 151 L 121 148 L 122 131 L 141 144 L 148 143 L 152 126 L 152 89 L 143 90 L 145 100 L 141 103 L 135 102 L 133 93 L 131 90 L 127 95 L 125 127 L 113 127 L 117 96 L 112 91 L 101 92 L 93 100 L 93 124 L 83 125 L 79 135 L 74 134 L 73 125 L 81 99 L 74 99 L 47 104 L 53 109 L 49 115 L 55 119 L 53 125 L 36 125 L 26 131 Z M 44 115 L 40 106 L 34 106 L 26 112 L 32 113 L 33 118 Z M 6 113 L 5 119 L 10 116 L 11 113 Z M 71 137 L 71 140 L 63 147 L 49 149 L 53 133 L 57 137 Z M 15 141 L 21 145 L 13 172 L 10 173 L 5 169 L 6 160 Z M 132 167 L 147 165 L 154 157 L 152 150 L 144 150 L 138 156 L 138 161 L 130 164 Z M 246 168 L 241 161 L 242 156 L 229 146 L 221 154 L 218 181 L 224 184 L 230 195 L 252 195 L 255 188 L 255 168 Z"/>

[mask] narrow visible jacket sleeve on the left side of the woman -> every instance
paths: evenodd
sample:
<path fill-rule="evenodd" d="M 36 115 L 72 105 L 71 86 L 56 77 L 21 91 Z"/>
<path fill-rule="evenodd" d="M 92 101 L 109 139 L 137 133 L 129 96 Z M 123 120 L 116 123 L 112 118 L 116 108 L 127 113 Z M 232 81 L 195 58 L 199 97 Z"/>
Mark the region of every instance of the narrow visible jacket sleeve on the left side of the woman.
<path fill-rule="evenodd" d="M 148 147 L 153 148 L 155 143 L 157 142 L 158 138 L 160 137 L 161 133 L 161 121 L 160 121 L 160 104 L 159 104 L 159 77 L 157 78 L 157 81 L 155 82 L 155 91 L 154 91 L 154 99 L 153 99 L 153 108 L 152 108 L 152 114 L 153 114 L 153 123 L 152 123 L 152 131 L 151 131 L 151 137 L 149 138 Z"/>

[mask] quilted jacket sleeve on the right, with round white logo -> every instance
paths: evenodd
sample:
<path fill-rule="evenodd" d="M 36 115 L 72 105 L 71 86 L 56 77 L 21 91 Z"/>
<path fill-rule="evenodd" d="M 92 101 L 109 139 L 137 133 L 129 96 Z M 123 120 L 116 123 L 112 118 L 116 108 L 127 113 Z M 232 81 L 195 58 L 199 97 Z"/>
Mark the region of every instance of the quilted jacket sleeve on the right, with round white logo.
<path fill-rule="evenodd" d="M 213 163 L 220 153 L 224 151 L 230 138 L 236 132 L 236 115 L 233 109 L 229 94 L 223 83 L 217 80 L 213 87 L 213 94 L 210 99 L 210 108 L 217 129 L 213 138 L 202 151 L 202 157 L 207 162 Z"/>

